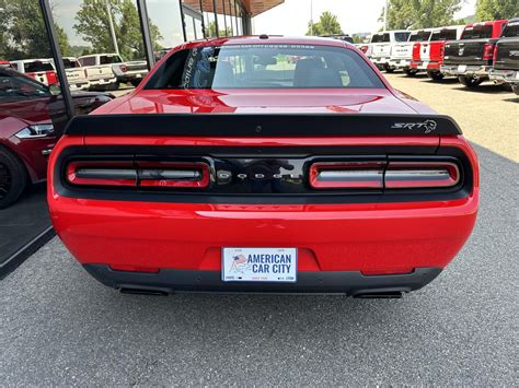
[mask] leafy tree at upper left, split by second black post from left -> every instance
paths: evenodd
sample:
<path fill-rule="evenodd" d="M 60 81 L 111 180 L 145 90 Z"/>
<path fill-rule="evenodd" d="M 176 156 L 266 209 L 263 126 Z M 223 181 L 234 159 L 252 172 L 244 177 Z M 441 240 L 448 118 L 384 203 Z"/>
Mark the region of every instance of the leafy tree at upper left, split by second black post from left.
<path fill-rule="evenodd" d="M 145 46 L 140 32 L 139 14 L 132 0 L 109 0 L 112 20 L 117 46 L 124 59 L 145 57 Z M 92 45 L 94 52 L 115 51 L 109 33 L 109 19 L 105 1 L 83 0 L 76 15 L 73 28 Z M 159 50 L 162 38 L 159 27 L 150 21 L 150 33 L 153 49 Z"/>

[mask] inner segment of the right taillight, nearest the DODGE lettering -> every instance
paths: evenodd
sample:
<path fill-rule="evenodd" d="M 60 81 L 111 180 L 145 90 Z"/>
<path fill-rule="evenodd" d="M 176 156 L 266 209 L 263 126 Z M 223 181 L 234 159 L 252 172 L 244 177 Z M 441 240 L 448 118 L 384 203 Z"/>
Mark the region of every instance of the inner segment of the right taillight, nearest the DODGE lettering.
<path fill-rule="evenodd" d="M 310 166 L 310 186 L 315 189 L 381 189 L 384 162 L 323 162 Z"/>

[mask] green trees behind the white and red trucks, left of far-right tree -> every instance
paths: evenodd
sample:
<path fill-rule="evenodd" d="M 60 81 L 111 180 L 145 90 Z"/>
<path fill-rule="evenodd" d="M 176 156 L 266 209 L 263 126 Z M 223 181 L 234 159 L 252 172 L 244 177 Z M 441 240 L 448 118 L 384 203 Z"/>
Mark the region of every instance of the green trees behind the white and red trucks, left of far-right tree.
<path fill-rule="evenodd" d="M 462 0 L 390 0 L 387 30 L 417 30 L 453 24 L 454 13 L 461 9 L 461 2 Z"/>

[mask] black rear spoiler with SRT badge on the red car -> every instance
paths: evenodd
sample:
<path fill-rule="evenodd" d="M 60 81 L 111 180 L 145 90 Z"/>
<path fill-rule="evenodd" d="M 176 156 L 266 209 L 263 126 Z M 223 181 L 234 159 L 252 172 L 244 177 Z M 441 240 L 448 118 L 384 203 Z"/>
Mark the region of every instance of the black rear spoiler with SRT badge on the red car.
<path fill-rule="evenodd" d="M 461 134 L 442 115 L 150 114 L 77 116 L 71 136 L 341 137 Z"/>

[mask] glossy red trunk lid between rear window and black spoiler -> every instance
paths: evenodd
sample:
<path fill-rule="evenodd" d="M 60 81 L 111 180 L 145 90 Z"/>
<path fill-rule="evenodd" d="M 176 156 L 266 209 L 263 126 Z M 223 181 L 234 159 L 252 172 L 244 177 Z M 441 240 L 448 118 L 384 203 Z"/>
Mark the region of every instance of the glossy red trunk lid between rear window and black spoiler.
<path fill-rule="evenodd" d="M 387 90 L 366 89 L 212 92 L 207 90 L 139 90 L 119 99 L 119 103 L 112 113 L 415 113 L 407 104 Z M 97 113 L 103 113 L 103 110 Z"/>

